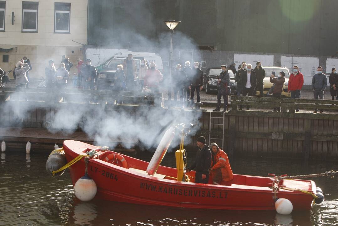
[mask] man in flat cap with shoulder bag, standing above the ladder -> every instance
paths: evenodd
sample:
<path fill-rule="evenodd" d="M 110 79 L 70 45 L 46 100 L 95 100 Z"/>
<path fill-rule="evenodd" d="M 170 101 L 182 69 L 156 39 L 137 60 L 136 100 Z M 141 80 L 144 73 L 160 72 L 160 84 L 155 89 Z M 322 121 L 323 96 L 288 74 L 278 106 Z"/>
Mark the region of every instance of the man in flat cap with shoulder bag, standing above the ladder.
<path fill-rule="evenodd" d="M 227 111 L 228 108 L 228 95 L 230 94 L 230 73 L 226 70 L 226 66 L 221 66 L 222 72 L 218 77 L 218 93 L 217 93 L 217 107 L 213 111 L 220 111 L 221 108 L 221 97 L 223 96 L 224 107 L 223 112 Z"/>

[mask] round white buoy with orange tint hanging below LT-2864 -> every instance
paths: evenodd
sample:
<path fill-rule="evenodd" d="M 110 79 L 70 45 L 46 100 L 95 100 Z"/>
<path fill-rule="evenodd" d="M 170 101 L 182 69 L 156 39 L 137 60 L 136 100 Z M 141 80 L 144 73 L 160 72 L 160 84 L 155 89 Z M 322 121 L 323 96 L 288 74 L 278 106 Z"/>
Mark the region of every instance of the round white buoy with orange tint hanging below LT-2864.
<path fill-rule="evenodd" d="M 75 196 L 82 202 L 92 200 L 97 192 L 95 181 L 87 174 L 78 179 L 74 185 Z"/>

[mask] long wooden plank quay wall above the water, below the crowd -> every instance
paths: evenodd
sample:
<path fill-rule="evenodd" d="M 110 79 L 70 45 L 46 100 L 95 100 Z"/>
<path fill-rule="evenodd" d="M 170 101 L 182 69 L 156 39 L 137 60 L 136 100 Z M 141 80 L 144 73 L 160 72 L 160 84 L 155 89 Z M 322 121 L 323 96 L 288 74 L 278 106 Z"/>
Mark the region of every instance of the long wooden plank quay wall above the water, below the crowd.
<path fill-rule="evenodd" d="M 10 90 L 9 92 L 15 91 Z M 93 99 L 91 98 L 93 95 L 98 95 L 97 99 L 109 98 L 101 91 L 96 94 L 93 90 L 86 92 L 81 91 L 85 100 Z M 106 97 L 100 97 L 100 95 L 106 95 Z M 120 95 L 123 96 L 122 93 Z M 154 107 L 163 113 L 180 111 L 182 116 L 191 113 L 191 110 L 164 109 L 159 105 L 151 104 L 154 103 L 154 99 L 147 99 L 150 97 L 162 98 L 159 97 L 160 95 L 145 97 L 142 93 L 143 96 L 140 97 L 141 94 L 138 94 L 136 98 L 146 99 L 138 104 L 132 99 L 131 94 L 127 95 L 129 97 L 125 99 L 129 101 L 129 104 L 113 105 L 108 104 L 107 100 L 105 103 L 104 100 L 101 101 L 102 104 L 94 104 L 95 101 L 92 104 L 87 101 L 82 101 L 82 103 L 61 102 L 62 99 L 56 103 L 29 99 L 28 101 L 18 101 L 10 100 L 8 94 L 2 94 L 6 98 L 0 101 L 0 139 L 5 140 L 9 147 L 13 148 L 24 148 L 25 143 L 30 140 L 32 150 L 35 148 L 46 152 L 50 152 L 54 143 L 62 144 L 65 139 L 93 143 L 94 138 L 89 137 L 81 130 L 82 123 L 85 123 L 81 119 L 75 132 L 65 133 L 65 131 L 53 130 L 55 125 L 52 125 L 51 122 L 55 114 L 62 108 L 74 107 L 74 105 L 79 111 L 125 111 L 132 115 L 131 118 L 136 118 L 139 111 L 147 111 L 148 108 L 150 110 Z M 13 111 L 18 109 L 11 108 L 8 102 L 16 105 L 19 103 L 20 109 L 25 111 L 24 117 L 15 117 Z M 218 143 L 231 157 L 337 160 L 338 115 L 336 110 L 338 106 L 333 105 L 336 103 L 335 100 L 231 96 L 230 109 L 232 110 L 227 113 L 199 111 L 199 125 L 196 125 L 199 130 L 186 141 L 186 149 L 194 151 L 197 137 L 205 136 L 207 143 Z M 250 105 L 252 109 L 262 110 L 237 110 L 239 105 Z M 272 112 L 274 106 L 280 106 L 282 112 Z M 323 108 L 326 113 L 294 113 L 294 109 L 298 106 L 301 109 Z M 268 111 L 263 109 L 268 109 Z M 150 125 L 151 122 L 144 123 Z M 123 150 L 123 143 L 137 143 L 136 140 L 130 141 L 112 137 L 102 142 L 101 145 L 107 145 L 106 143 L 109 142 L 114 145 L 119 143 L 121 150 Z"/>

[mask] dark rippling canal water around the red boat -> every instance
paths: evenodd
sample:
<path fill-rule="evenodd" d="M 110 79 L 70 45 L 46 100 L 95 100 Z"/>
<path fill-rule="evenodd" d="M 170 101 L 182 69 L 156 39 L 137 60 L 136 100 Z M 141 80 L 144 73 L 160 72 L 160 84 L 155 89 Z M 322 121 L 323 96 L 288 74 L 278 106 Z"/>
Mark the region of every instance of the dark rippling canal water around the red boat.
<path fill-rule="evenodd" d="M 68 171 L 51 178 L 45 171 L 48 154 L 13 153 L 0 160 L 0 225 L 338 225 L 338 179 L 315 178 L 325 201 L 310 211 L 288 216 L 275 211 L 196 210 L 93 200 L 80 202 Z M 27 160 L 30 157 L 30 160 Z M 150 155 L 143 155 L 149 160 Z M 189 158 L 190 163 L 193 157 Z M 174 166 L 174 155 L 163 165 Z M 231 160 L 234 173 L 266 176 L 274 174 L 323 173 L 337 163 Z"/>

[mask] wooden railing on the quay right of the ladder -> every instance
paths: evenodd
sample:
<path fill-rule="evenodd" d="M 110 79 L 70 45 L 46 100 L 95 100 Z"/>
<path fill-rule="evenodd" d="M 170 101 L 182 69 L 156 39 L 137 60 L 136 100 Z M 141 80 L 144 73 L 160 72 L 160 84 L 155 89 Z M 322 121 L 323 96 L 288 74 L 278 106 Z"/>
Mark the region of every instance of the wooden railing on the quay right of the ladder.
<path fill-rule="evenodd" d="M 324 109 L 338 110 L 337 100 L 291 99 L 275 97 L 231 96 L 231 109 L 237 111 L 239 106 L 258 109 L 273 109 L 280 107 L 282 112 L 294 112 L 296 108 L 305 110 Z"/>

